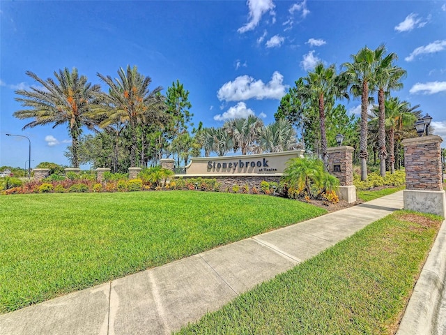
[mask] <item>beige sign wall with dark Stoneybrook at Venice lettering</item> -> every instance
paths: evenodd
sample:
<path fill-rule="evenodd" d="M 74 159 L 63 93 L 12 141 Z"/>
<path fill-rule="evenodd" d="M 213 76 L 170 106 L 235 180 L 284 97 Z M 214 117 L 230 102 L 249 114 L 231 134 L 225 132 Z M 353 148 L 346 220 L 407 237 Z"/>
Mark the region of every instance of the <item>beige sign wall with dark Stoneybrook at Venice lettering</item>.
<path fill-rule="evenodd" d="M 282 175 L 286 161 L 302 157 L 303 153 L 303 150 L 293 150 L 270 154 L 192 158 L 186 166 L 186 175 Z"/>

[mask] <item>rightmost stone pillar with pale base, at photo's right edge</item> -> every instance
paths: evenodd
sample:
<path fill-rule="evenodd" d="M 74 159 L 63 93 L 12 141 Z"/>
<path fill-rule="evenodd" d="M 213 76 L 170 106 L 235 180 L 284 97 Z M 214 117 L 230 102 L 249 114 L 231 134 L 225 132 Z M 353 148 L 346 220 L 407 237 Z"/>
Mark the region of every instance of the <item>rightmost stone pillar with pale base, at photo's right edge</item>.
<path fill-rule="evenodd" d="M 407 138 L 401 142 L 406 168 L 404 209 L 446 216 L 441 142 L 443 139 L 438 135 Z"/>

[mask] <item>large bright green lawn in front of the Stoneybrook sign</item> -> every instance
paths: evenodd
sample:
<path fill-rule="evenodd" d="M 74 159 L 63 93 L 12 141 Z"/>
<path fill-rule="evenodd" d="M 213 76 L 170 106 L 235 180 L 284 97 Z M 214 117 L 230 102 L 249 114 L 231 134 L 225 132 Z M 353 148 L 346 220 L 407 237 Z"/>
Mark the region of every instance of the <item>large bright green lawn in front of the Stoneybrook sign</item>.
<path fill-rule="evenodd" d="M 325 214 L 196 191 L 0 197 L 0 313 Z"/>

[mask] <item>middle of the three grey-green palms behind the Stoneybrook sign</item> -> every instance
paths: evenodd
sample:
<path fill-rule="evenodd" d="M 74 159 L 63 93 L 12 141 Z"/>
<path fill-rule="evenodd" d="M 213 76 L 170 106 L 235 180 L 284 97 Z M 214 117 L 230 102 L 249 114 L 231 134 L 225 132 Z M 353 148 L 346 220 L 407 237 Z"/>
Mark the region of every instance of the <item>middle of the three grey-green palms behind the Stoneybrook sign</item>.
<path fill-rule="evenodd" d="M 234 144 L 234 151 L 240 149 L 242 155 L 246 155 L 249 147 L 252 147 L 259 135 L 259 129 L 263 127 L 263 121 L 255 115 L 247 118 L 238 117 L 226 121 L 223 128 L 231 135 Z"/>

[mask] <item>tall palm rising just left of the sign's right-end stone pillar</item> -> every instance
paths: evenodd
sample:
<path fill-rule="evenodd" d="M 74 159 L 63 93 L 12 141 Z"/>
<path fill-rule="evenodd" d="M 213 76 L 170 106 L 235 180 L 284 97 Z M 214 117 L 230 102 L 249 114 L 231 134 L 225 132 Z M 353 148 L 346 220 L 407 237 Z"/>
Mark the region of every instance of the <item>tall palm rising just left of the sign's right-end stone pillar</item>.
<path fill-rule="evenodd" d="M 314 96 L 317 100 L 319 110 L 319 125 L 321 126 L 321 147 L 322 147 L 322 161 L 328 162 L 327 156 L 327 135 L 325 135 L 325 109 L 329 101 L 333 98 L 344 97 L 348 98 L 346 93 L 346 84 L 344 84 L 344 77 L 336 75 L 334 64 L 325 68 L 323 63 L 316 64 L 313 72 L 309 72 L 308 76 L 304 78 L 305 86 L 303 89 L 307 97 Z"/>

